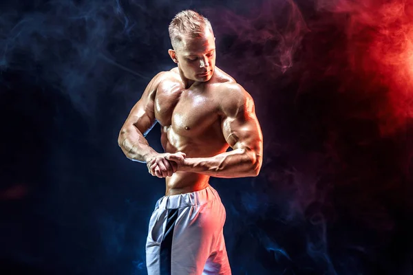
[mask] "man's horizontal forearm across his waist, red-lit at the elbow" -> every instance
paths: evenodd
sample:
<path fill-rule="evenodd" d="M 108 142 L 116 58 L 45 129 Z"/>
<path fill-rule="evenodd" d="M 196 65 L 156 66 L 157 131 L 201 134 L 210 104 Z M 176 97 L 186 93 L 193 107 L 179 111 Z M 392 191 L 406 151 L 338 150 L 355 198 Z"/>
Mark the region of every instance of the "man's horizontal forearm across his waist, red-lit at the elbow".
<path fill-rule="evenodd" d="M 255 177 L 260 172 L 260 166 L 260 156 L 238 148 L 213 157 L 187 158 L 179 170 L 212 177 Z"/>

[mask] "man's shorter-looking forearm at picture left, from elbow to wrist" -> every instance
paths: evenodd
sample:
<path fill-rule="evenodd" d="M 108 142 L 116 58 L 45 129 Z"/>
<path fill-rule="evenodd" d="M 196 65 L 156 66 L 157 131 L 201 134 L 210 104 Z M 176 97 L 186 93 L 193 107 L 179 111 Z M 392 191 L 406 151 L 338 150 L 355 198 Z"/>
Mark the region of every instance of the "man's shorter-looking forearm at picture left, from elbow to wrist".
<path fill-rule="evenodd" d="M 126 157 L 135 162 L 147 162 L 148 159 L 157 154 L 134 125 L 120 131 L 118 144 Z"/>

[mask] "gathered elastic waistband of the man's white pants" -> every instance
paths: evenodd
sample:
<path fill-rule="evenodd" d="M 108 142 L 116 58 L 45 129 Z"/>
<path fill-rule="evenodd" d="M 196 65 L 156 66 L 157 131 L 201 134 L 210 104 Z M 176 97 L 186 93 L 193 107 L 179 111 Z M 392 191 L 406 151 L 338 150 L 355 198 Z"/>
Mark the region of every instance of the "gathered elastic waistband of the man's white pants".
<path fill-rule="evenodd" d="M 195 192 L 161 197 L 156 202 L 156 208 L 176 209 L 196 206 L 207 203 L 208 201 L 215 199 L 215 197 L 218 197 L 218 192 L 209 185 L 206 188 Z"/>

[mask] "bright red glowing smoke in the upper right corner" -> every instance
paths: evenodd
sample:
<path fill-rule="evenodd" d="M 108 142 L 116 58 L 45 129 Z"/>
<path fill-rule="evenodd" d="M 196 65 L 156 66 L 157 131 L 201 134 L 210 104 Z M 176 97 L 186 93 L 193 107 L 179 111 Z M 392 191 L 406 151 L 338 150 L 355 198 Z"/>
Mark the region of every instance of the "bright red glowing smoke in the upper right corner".
<path fill-rule="evenodd" d="M 375 76 L 368 92 L 388 89 L 379 126 L 384 134 L 399 129 L 413 116 L 413 1 L 321 0 L 317 8 L 346 15 L 351 69 Z"/>

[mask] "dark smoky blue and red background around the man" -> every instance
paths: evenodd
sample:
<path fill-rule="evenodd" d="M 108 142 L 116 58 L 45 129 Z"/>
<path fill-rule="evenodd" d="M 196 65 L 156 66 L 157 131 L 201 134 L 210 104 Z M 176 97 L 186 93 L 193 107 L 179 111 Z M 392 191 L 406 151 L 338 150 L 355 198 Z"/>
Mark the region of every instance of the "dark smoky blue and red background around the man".
<path fill-rule="evenodd" d="M 146 274 L 165 184 L 117 137 L 187 8 L 264 133 L 258 177 L 211 178 L 233 274 L 411 275 L 408 0 L 2 1 L 1 274 Z"/>

